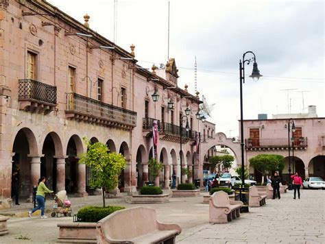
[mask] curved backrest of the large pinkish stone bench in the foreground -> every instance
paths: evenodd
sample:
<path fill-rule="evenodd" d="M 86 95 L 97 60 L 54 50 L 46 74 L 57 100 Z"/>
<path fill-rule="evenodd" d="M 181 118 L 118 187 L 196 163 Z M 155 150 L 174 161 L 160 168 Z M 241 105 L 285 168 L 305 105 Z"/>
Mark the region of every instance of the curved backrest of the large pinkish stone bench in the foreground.
<path fill-rule="evenodd" d="M 98 221 L 101 231 L 112 239 L 132 239 L 157 229 L 156 211 L 151 208 L 119 210 Z"/>

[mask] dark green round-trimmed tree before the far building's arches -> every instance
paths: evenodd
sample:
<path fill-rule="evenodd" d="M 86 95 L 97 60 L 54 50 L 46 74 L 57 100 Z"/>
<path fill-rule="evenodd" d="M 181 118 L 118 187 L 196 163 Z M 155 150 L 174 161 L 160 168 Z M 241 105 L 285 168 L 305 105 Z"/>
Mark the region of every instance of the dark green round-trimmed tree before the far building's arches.
<path fill-rule="evenodd" d="M 250 158 L 250 164 L 260 173 L 262 173 L 262 183 L 264 181 L 265 171 L 271 175 L 274 171 L 282 171 L 285 168 L 285 157 L 277 154 L 259 154 Z"/>

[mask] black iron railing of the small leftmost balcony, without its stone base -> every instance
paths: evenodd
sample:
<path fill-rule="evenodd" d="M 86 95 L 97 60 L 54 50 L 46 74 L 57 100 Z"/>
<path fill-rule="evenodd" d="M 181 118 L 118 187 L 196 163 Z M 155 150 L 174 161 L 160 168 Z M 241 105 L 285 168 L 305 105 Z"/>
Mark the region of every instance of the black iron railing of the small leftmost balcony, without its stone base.
<path fill-rule="evenodd" d="M 19 100 L 36 100 L 56 104 L 56 86 L 36 80 L 19 80 Z"/>

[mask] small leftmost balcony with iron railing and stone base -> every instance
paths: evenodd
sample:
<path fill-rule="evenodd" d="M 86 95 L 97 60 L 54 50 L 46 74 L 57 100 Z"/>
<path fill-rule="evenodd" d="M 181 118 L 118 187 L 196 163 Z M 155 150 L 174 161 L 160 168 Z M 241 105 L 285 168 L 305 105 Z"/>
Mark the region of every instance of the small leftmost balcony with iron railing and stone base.
<path fill-rule="evenodd" d="M 56 108 L 56 86 L 36 80 L 19 80 L 19 109 L 49 114 Z"/>

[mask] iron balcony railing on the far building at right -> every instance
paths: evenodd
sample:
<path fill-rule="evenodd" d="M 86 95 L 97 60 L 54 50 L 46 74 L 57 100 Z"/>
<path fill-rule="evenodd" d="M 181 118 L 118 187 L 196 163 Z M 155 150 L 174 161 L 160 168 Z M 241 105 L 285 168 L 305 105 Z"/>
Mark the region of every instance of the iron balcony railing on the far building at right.
<path fill-rule="evenodd" d="M 295 138 L 291 141 L 290 138 L 290 147 L 292 143 L 295 147 L 307 147 L 308 141 L 306 137 Z M 265 147 L 289 147 L 288 138 L 248 138 L 245 139 L 246 148 L 265 148 Z"/>

